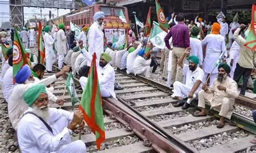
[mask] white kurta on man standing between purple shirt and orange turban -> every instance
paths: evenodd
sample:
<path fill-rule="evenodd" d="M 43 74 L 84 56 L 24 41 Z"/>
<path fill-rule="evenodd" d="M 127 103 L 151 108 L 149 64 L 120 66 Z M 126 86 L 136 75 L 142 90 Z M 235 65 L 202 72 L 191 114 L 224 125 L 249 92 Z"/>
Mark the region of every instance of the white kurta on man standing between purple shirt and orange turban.
<path fill-rule="evenodd" d="M 190 55 L 196 55 L 199 58 L 199 64 L 203 65 L 203 48 L 201 40 L 190 37 Z M 187 61 L 188 64 L 188 61 Z"/>

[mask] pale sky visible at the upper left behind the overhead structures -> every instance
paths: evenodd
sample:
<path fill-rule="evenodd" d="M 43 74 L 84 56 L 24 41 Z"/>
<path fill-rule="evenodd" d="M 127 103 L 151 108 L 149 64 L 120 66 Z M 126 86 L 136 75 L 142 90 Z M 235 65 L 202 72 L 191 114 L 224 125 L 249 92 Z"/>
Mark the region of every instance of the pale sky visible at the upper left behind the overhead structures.
<path fill-rule="evenodd" d="M 10 21 L 10 15 L 9 15 L 9 0 L 2 0 L 2 2 L 5 1 L 7 4 L 0 4 L 0 22 L 8 22 Z M 1 2 L 0 2 L 1 3 Z M 46 19 L 49 19 L 49 10 L 51 10 L 51 13 L 57 17 L 57 9 L 48 9 L 48 8 L 42 8 L 42 17 L 43 14 L 47 14 L 45 17 Z M 59 16 L 65 15 L 66 13 L 69 13 L 69 9 L 59 9 Z M 8 15 L 3 15 L 3 13 L 8 13 Z M 33 15 L 40 17 L 40 8 L 27 8 L 24 7 L 24 13 L 30 13 L 31 15 L 24 15 L 25 21 L 29 18 L 32 18 Z"/>

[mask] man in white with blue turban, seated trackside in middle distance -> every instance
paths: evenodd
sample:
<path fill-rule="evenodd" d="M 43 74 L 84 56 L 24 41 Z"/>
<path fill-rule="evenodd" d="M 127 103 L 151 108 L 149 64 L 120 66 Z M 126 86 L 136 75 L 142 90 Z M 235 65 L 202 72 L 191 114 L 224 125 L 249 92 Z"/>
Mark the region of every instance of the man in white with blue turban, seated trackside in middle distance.
<path fill-rule="evenodd" d="M 134 65 L 133 65 L 133 72 L 134 74 L 142 74 L 145 77 L 149 78 L 150 77 L 150 64 L 151 64 L 151 59 L 145 60 L 143 58 L 145 53 L 144 49 L 139 50 L 138 56 L 134 60 Z M 151 56 L 153 58 L 153 56 Z"/>

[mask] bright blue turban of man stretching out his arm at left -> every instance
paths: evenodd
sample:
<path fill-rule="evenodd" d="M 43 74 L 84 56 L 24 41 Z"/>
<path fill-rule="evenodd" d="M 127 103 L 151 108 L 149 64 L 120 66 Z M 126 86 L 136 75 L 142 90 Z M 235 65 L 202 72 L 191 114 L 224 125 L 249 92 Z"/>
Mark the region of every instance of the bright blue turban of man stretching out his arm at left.
<path fill-rule="evenodd" d="M 17 84 L 23 84 L 26 80 L 29 79 L 31 75 L 31 71 L 28 65 L 24 65 L 19 69 L 15 76 L 15 82 Z"/>

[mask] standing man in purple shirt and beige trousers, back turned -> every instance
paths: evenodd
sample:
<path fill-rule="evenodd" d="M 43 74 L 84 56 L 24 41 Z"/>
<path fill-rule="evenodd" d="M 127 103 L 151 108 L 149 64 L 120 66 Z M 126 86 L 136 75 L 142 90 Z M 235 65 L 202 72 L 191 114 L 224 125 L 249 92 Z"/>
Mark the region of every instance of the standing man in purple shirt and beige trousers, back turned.
<path fill-rule="evenodd" d="M 182 69 L 177 65 L 178 59 L 183 55 L 185 48 L 190 47 L 190 35 L 188 27 L 184 25 L 185 15 L 179 13 L 177 15 L 178 24 L 173 26 L 169 33 L 165 36 L 164 41 L 166 47 L 171 50 L 169 39 L 172 37 L 172 79 L 171 87 L 175 81 L 181 82 L 183 80 Z M 184 61 L 185 62 L 185 59 Z"/>

